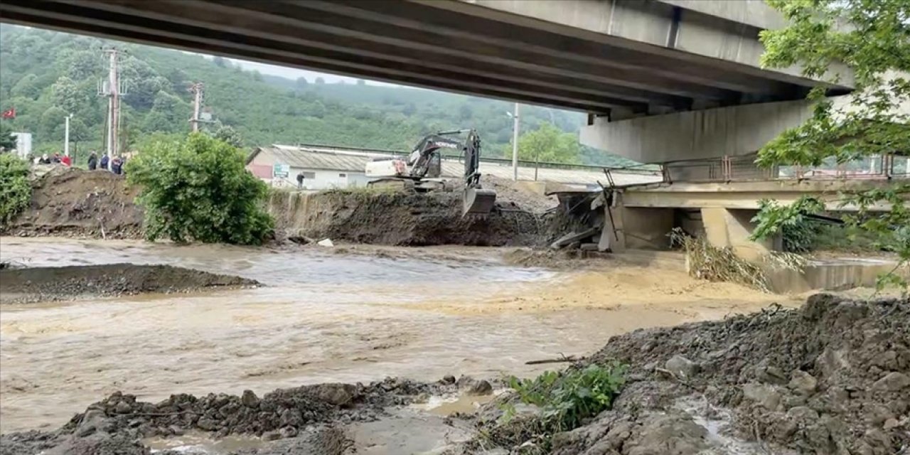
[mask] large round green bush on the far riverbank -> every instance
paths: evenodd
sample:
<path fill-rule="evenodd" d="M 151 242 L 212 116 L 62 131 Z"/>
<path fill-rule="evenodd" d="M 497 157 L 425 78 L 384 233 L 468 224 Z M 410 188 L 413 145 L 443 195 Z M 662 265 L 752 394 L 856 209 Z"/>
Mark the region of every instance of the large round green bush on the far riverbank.
<path fill-rule="evenodd" d="M 272 232 L 268 186 L 237 147 L 211 136 L 153 141 L 127 162 L 126 177 L 141 187 L 149 240 L 258 245 Z"/>

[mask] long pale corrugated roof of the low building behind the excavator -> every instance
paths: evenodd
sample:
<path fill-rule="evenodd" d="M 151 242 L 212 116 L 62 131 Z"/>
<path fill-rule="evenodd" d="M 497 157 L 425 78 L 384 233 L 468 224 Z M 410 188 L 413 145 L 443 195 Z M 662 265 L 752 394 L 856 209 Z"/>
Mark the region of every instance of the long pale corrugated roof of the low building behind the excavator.
<path fill-rule="evenodd" d="M 381 157 L 404 157 L 405 152 L 396 153 L 389 150 L 329 147 L 329 146 L 281 146 L 258 147 L 248 157 L 247 162 L 254 160 L 257 164 L 284 164 L 290 167 L 307 169 L 338 170 L 346 172 L 364 172 L 370 160 Z M 541 181 L 575 184 L 597 185 L 598 181 L 605 181 L 601 167 L 560 166 L 543 164 L 537 168 L 537 179 Z M 533 180 L 535 167 L 531 163 L 522 163 L 518 168 L 520 180 Z M 481 159 L 480 173 L 484 175 L 511 178 L 511 163 L 501 159 Z M 464 164 L 457 158 L 443 157 L 442 177 L 458 178 L 464 174 Z M 613 174 L 617 185 L 639 183 L 642 181 L 656 181 L 660 177 L 642 176 L 642 174 Z"/>

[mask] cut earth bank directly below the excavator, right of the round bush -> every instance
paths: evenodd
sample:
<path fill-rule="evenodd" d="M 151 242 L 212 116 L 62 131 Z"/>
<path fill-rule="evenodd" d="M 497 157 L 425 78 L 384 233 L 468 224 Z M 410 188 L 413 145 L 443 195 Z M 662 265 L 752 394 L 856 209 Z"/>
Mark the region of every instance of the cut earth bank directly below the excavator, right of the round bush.
<path fill-rule="evenodd" d="M 461 217 L 457 191 L 275 193 L 268 205 L 278 236 L 396 246 L 531 246 L 552 237 L 549 216 L 504 207 Z"/>

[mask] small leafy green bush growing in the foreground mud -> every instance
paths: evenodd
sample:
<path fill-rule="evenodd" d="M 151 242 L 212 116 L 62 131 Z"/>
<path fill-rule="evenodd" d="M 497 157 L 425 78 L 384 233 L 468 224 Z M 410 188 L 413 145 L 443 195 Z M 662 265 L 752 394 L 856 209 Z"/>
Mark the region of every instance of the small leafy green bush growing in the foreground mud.
<path fill-rule="evenodd" d="M 535 379 L 509 378 L 509 387 L 519 399 L 542 409 L 547 433 L 573 430 L 582 421 L 609 410 L 625 383 L 626 367 L 620 364 L 591 364 L 561 373 L 544 371 Z M 511 416 L 511 410 L 507 410 Z"/>

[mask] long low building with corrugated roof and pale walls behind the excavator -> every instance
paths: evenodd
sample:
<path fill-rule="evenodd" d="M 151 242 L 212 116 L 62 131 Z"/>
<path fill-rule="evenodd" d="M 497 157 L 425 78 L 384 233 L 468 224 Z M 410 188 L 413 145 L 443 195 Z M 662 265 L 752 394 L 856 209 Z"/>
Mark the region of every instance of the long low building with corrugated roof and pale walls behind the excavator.
<path fill-rule="evenodd" d="M 306 189 L 331 187 L 362 187 L 371 179 L 365 170 L 375 158 L 405 157 L 407 152 L 375 148 L 335 147 L 318 145 L 258 147 L 247 159 L 247 168 L 274 187 L 297 187 L 297 175 L 304 176 Z M 485 176 L 511 179 L 511 161 L 481 158 L 480 173 Z M 554 163 L 520 162 L 519 180 L 539 180 L 577 187 L 598 187 L 604 181 L 602 167 L 562 165 Z M 460 179 L 464 164 L 456 157 L 443 157 L 442 177 Z M 639 180 L 642 176 L 620 175 L 620 179 Z M 617 184 L 632 183 L 618 181 Z"/>

